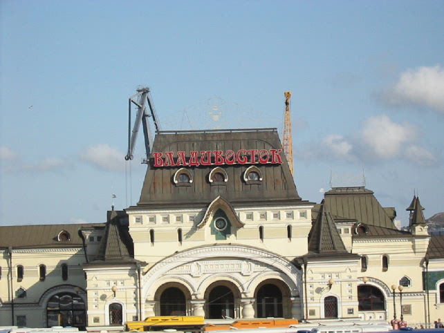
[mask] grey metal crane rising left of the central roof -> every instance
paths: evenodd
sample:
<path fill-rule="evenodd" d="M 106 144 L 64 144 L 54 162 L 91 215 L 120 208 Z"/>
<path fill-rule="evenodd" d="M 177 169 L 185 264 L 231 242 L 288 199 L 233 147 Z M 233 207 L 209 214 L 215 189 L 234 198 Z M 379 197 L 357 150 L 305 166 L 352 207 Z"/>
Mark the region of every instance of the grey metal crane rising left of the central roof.
<path fill-rule="evenodd" d="M 136 89 L 136 95 L 129 97 L 128 101 L 128 153 L 125 156 L 125 160 L 133 159 L 134 148 L 136 147 L 136 140 L 138 131 L 140 128 L 140 122 L 142 122 L 143 135 L 145 137 L 145 153 L 147 157 L 142 160 L 142 163 L 147 163 L 149 159 L 149 153 L 151 152 L 151 147 L 153 146 L 154 137 L 151 135 L 149 129 L 148 117 L 151 117 L 156 131 L 161 131 L 158 117 L 156 114 L 156 109 L 154 108 L 153 101 L 151 99 L 151 94 L 149 93 L 149 87 L 139 87 Z M 147 112 L 146 104 L 148 103 L 149 111 Z M 137 113 L 136 120 L 134 121 L 133 131 L 131 133 L 131 104 L 136 104 Z"/>

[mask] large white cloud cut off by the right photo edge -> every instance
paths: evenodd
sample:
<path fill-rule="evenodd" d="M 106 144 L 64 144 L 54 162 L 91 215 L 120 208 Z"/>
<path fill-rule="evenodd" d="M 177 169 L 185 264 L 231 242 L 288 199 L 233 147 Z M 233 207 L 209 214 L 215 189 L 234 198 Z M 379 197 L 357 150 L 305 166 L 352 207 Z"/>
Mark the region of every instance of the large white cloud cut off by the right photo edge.
<path fill-rule="evenodd" d="M 444 113 L 444 68 L 418 67 L 401 73 L 386 97 L 391 104 L 425 105 Z"/>

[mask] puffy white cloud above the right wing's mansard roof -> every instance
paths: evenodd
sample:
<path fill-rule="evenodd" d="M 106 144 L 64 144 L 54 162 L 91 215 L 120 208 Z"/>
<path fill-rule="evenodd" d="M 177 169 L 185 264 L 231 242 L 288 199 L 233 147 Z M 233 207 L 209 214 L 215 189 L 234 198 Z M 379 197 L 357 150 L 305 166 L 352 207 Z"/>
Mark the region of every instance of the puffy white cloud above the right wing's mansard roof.
<path fill-rule="evenodd" d="M 376 158 L 396 158 L 403 144 L 416 139 L 416 128 L 411 124 L 397 124 L 387 115 L 369 117 L 360 133 L 362 144 L 370 149 Z"/>

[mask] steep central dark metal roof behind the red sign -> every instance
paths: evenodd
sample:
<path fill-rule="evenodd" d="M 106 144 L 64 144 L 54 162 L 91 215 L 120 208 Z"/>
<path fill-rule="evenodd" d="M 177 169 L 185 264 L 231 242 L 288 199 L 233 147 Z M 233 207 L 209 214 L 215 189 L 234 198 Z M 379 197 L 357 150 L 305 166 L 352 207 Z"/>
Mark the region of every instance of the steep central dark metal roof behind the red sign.
<path fill-rule="evenodd" d="M 301 202 L 283 151 L 279 153 L 282 164 L 255 164 L 263 175 L 263 180 L 255 184 L 243 180 L 243 173 L 251 164 L 186 167 L 193 178 L 187 187 L 177 187 L 173 182 L 174 174 L 181 167 L 153 165 L 153 153 L 172 152 L 176 157 L 178 151 L 185 151 L 189 156 L 191 151 L 240 149 L 270 150 L 282 149 L 282 146 L 276 129 L 159 132 L 154 140 L 138 206 L 174 204 L 175 207 L 189 207 L 208 204 L 218 196 L 223 196 L 233 206 L 249 202 Z M 209 182 L 208 175 L 214 167 L 221 167 L 227 173 L 228 182 L 216 186 Z"/>

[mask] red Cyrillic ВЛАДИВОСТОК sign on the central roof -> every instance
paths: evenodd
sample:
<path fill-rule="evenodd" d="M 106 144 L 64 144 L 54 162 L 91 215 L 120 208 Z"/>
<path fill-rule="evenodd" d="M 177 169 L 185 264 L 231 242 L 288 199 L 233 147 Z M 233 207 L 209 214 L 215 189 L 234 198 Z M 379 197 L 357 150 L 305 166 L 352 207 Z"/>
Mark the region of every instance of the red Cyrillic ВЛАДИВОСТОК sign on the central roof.
<path fill-rule="evenodd" d="M 186 157 L 185 151 L 178 151 L 176 156 L 172 151 L 153 153 L 154 167 L 198 167 L 200 165 L 222 164 L 282 164 L 279 153 L 282 149 L 239 149 L 228 151 L 190 151 Z"/>

